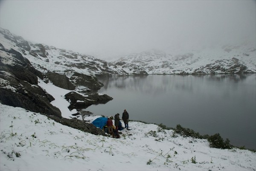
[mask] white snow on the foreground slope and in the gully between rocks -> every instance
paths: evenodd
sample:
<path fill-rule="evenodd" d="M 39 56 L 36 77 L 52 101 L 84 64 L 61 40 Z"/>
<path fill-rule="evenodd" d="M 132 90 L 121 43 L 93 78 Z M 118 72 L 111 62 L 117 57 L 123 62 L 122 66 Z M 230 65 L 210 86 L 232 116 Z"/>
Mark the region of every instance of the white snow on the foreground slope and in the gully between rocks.
<path fill-rule="evenodd" d="M 52 104 L 69 116 L 65 89 Z M 65 113 L 66 112 L 66 113 Z M 84 120 L 100 116 L 85 117 Z M 173 136 L 154 124 L 130 122 L 120 139 L 96 136 L 61 125 L 47 116 L 0 104 L 0 170 L 256 170 L 256 153 L 209 148 L 207 140 Z"/>

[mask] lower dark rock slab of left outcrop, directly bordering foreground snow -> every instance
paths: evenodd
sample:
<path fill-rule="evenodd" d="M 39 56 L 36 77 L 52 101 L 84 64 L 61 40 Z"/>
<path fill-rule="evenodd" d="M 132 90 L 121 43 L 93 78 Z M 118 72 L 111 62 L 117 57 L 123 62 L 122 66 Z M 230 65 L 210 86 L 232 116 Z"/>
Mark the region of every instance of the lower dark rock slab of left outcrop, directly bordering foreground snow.
<path fill-rule="evenodd" d="M 15 76 L 0 74 L 5 79 L 0 88 L 0 101 L 4 105 L 25 108 L 26 110 L 61 117 L 61 111 L 50 102 L 54 98 L 41 87 L 19 80 Z M 9 88 L 11 85 L 12 88 Z"/>

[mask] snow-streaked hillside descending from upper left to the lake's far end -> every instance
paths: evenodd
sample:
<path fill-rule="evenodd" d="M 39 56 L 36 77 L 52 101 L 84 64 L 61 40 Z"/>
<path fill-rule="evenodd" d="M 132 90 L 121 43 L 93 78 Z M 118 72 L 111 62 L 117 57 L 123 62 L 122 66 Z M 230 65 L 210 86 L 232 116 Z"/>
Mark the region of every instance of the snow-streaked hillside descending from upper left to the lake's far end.
<path fill-rule="evenodd" d="M 6 49 L 14 49 L 26 57 L 32 66 L 42 73 L 66 74 L 77 72 L 86 75 L 118 73 L 111 64 L 85 54 L 55 48 L 40 43 L 32 43 L 1 28 L 0 43 Z"/>

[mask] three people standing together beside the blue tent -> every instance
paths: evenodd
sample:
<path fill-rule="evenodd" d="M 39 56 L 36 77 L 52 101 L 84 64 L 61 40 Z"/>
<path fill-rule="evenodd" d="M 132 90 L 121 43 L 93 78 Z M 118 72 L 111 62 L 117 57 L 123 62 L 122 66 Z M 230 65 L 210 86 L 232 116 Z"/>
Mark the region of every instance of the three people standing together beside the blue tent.
<path fill-rule="evenodd" d="M 119 125 L 119 121 L 121 120 L 120 119 L 120 114 L 116 114 L 115 115 L 115 127 L 116 127 L 116 130 L 118 130 L 118 128 L 120 127 Z M 113 134 L 113 117 L 108 117 L 108 120 L 107 120 L 107 126 L 108 126 L 108 133 L 109 134 Z M 122 120 L 125 124 L 125 128 L 129 129 L 129 125 L 128 125 L 128 120 L 129 120 L 129 114 L 128 112 L 126 111 L 126 109 L 124 110 L 124 112 L 122 113 Z"/>

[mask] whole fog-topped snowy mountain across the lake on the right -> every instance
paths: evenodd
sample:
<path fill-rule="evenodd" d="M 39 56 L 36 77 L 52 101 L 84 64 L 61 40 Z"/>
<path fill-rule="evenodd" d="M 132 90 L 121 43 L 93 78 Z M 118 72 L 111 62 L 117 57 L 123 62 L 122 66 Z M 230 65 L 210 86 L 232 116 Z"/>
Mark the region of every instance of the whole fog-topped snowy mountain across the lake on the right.
<path fill-rule="evenodd" d="M 153 49 L 126 55 L 114 64 L 126 72 L 140 68 L 148 74 L 255 73 L 256 48 L 254 43 L 243 43 L 170 53 Z"/>

